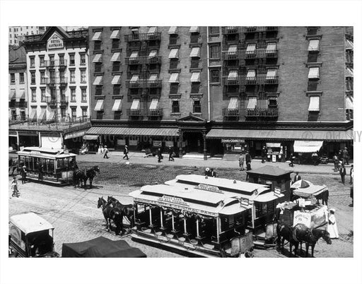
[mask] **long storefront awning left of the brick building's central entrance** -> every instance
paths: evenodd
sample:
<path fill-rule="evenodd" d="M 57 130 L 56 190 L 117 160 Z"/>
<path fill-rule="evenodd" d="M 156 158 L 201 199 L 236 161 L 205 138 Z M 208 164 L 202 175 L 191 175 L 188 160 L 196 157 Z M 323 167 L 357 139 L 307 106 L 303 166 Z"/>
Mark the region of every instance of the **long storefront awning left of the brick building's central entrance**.
<path fill-rule="evenodd" d="M 125 135 L 125 136 L 179 136 L 177 128 L 132 128 L 132 127 L 102 127 L 93 126 L 87 131 L 88 134 L 98 135 Z"/>

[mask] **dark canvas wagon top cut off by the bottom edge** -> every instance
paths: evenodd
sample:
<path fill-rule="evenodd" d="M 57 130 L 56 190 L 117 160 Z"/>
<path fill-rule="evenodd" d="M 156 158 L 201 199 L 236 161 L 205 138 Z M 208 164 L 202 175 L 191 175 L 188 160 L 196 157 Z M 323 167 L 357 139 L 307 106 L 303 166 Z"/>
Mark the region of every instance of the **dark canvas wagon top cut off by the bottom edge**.
<path fill-rule="evenodd" d="M 62 257 L 147 257 L 136 247 L 120 239 L 97 237 L 86 242 L 63 244 Z"/>

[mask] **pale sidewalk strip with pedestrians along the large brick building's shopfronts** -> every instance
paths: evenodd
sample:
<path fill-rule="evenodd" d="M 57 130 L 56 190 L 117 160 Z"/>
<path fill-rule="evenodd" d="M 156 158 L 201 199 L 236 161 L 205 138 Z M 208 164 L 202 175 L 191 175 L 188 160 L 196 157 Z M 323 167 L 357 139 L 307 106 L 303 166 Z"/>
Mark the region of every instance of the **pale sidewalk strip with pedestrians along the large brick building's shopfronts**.
<path fill-rule="evenodd" d="M 95 164 L 98 162 L 112 162 L 112 163 L 120 163 L 126 164 L 129 162 L 133 165 L 170 165 L 170 166 L 180 166 L 180 167 L 210 167 L 214 168 L 217 172 L 218 168 L 231 168 L 238 169 L 239 162 L 235 156 L 235 160 L 202 160 L 202 159 L 185 159 L 185 158 L 175 158 L 175 162 L 168 160 L 168 154 L 163 153 L 163 161 L 158 163 L 157 156 L 156 157 L 148 157 L 144 158 L 144 153 L 129 153 L 129 160 L 123 160 L 122 152 L 109 152 L 109 159 L 104 159 L 103 154 L 86 154 L 86 155 L 78 155 L 77 160 L 79 162 L 94 162 Z M 334 172 L 334 165 L 331 163 L 327 165 L 296 165 L 294 167 L 289 167 L 288 162 L 265 162 L 262 164 L 261 160 L 252 160 L 252 169 L 257 169 L 259 167 L 263 167 L 264 165 L 273 165 L 275 167 L 280 167 L 284 170 L 291 170 L 293 172 L 299 172 L 301 174 L 336 174 L 339 175 L 338 172 Z M 346 173 L 349 175 L 349 168 L 351 167 L 351 163 L 346 165 Z"/>

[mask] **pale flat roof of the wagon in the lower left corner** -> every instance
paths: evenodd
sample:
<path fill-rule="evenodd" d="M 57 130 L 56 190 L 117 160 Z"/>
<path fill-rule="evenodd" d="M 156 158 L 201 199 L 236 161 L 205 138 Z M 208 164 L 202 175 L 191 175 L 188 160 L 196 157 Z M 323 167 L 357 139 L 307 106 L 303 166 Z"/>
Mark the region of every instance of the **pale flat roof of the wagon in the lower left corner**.
<path fill-rule="evenodd" d="M 10 222 L 28 235 L 30 232 L 54 229 L 53 225 L 35 213 L 13 215 Z"/>

